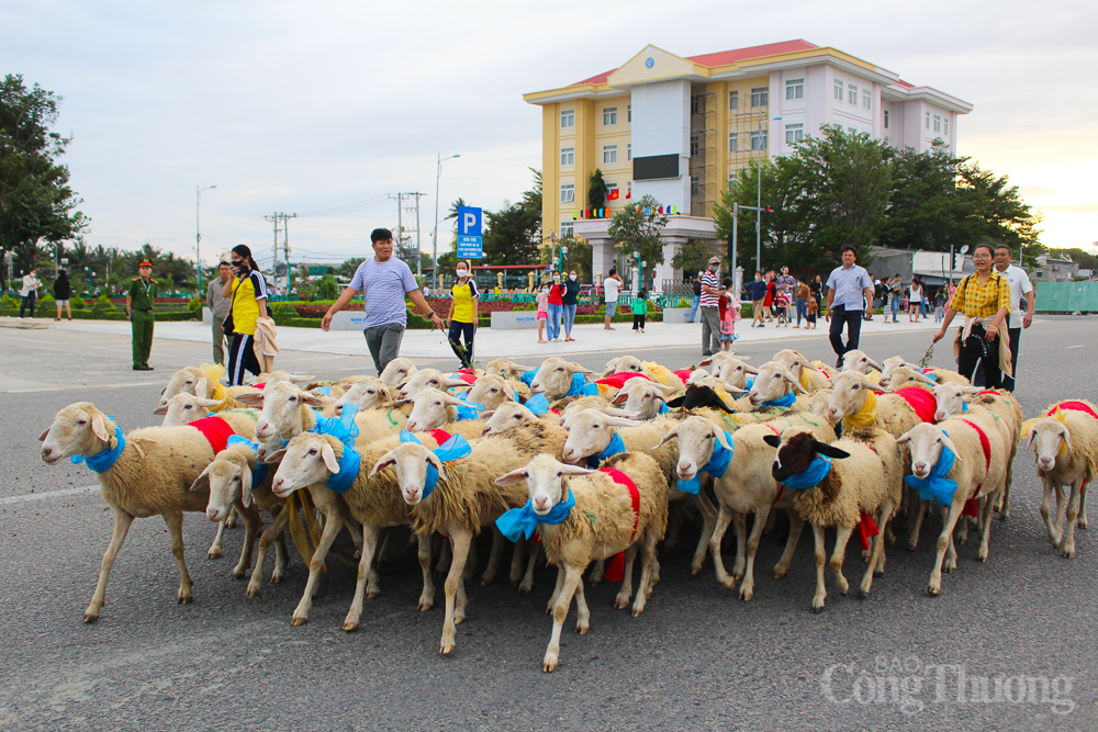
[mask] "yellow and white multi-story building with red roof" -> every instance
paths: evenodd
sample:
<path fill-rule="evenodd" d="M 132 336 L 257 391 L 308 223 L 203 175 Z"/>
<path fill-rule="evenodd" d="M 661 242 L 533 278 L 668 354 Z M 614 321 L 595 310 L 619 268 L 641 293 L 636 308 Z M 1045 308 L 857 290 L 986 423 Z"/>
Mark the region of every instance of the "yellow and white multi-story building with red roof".
<path fill-rule="evenodd" d="M 679 279 L 671 259 L 687 238 L 715 239 L 714 205 L 750 160 L 785 155 L 824 125 L 896 147 L 922 151 L 940 138 L 955 149 L 957 117 L 972 111 L 806 41 L 686 58 L 650 45 L 618 69 L 524 99 L 542 108 L 544 230 L 587 239 L 596 279 L 614 266 L 614 213 L 645 195 L 677 212 L 663 232 L 657 288 Z M 602 217 L 576 215 L 596 168 L 612 200 Z"/>

